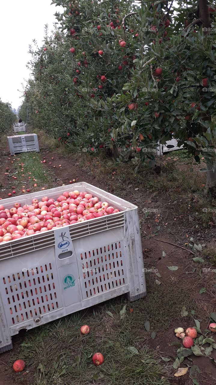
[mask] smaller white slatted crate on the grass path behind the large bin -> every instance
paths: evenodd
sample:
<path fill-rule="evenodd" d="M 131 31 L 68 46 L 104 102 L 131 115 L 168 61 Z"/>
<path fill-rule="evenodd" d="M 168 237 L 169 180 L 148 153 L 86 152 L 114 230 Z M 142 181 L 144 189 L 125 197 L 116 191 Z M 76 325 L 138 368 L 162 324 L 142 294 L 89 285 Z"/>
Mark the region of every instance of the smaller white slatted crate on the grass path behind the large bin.
<path fill-rule="evenodd" d="M 38 136 L 36 134 L 8 136 L 8 145 L 11 155 L 17 154 L 18 152 L 40 151 Z"/>

